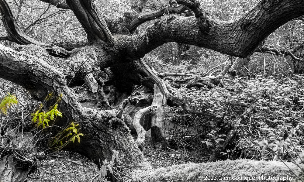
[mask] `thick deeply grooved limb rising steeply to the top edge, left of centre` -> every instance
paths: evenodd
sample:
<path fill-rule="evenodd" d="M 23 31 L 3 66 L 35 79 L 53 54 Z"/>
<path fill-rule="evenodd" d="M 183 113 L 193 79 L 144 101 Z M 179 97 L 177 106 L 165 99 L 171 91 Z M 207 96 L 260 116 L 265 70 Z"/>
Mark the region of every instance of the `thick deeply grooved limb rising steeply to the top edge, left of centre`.
<path fill-rule="evenodd" d="M 96 40 L 113 43 L 112 34 L 94 0 L 67 0 L 66 2 L 85 29 L 89 43 Z"/>

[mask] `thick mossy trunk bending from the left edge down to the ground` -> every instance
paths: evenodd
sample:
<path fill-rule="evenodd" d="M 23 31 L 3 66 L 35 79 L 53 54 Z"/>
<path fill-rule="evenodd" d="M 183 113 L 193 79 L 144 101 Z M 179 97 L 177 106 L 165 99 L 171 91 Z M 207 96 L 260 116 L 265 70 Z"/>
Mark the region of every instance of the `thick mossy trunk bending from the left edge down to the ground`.
<path fill-rule="evenodd" d="M 116 117 L 114 110 L 95 110 L 93 112 L 92 109 L 82 107 L 77 101 L 74 91 L 67 87 L 64 75 L 57 69 L 50 69 L 51 66 L 45 62 L 51 62 L 51 57 L 40 47 L 33 45 L 16 46 L 16 49 L 22 49 L 24 52 L 17 52 L 0 45 L 0 77 L 5 77 L 7 80 L 35 93 L 33 97 L 38 96 L 42 102 L 51 93 L 48 101 L 44 102 L 44 107 L 49 108 L 55 103 L 59 104 L 58 108 L 63 113 L 63 117 L 57 118 L 56 125 L 61 128 L 69 127 L 72 122 L 80 124 L 80 133 L 84 134 L 84 136 L 80 136 L 80 142 L 71 142 L 62 150 L 83 154 L 98 167 L 101 167 L 102 160 L 112 158 L 112 150 L 122 151 L 127 163 L 146 163 L 143 154 L 130 135 L 130 130 L 122 121 L 122 118 Z M 43 60 L 30 56 L 26 52 L 39 55 L 37 57 L 42 57 Z M 89 62 L 92 59 L 92 54 L 87 55 L 88 57 L 85 59 Z M 69 60 L 70 63 L 68 64 L 63 62 L 64 60 L 53 59 L 53 64 L 58 65 L 58 67 L 64 65 L 68 67 L 73 60 L 83 57 L 84 54 L 81 56 L 76 54 Z M 58 101 L 58 98 L 60 98 L 60 101 Z M 61 129 L 55 129 L 54 127 L 49 130 L 53 136 L 60 131 Z"/>

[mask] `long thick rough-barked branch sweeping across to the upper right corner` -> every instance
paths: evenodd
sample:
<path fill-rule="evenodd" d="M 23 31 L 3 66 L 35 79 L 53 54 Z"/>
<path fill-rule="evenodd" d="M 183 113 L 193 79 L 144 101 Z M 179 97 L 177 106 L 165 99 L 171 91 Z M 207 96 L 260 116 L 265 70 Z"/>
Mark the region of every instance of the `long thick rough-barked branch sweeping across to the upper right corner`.
<path fill-rule="evenodd" d="M 201 46 L 245 58 L 275 29 L 304 14 L 304 2 L 298 0 L 262 0 L 234 22 L 209 18 L 208 31 L 199 30 L 194 17 L 170 15 L 149 26 L 138 36 L 124 36 L 123 49 L 138 59 L 168 42 Z"/>

